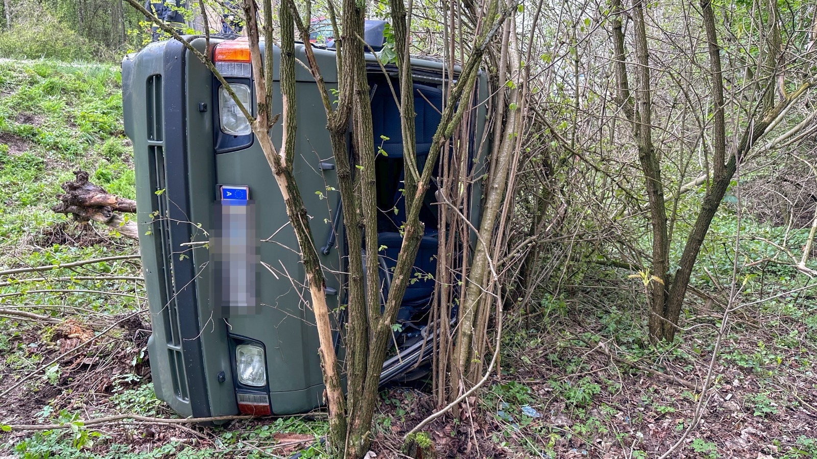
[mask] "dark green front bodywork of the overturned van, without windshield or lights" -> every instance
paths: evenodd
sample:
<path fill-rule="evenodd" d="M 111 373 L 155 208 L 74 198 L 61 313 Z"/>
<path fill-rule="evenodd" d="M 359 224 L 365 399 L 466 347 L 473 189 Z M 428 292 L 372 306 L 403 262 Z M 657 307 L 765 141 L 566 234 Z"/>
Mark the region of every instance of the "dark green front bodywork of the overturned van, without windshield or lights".
<path fill-rule="evenodd" d="M 211 55 L 222 41 L 212 38 L 208 49 L 204 38 L 189 39 L 193 47 Z M 324 81 L 333 87 L 335 51 L 315 48 L 315 56 Z M 302 45 L 297 46 L 296 57 L 306 62 Z M 371 53 L 367 59 L 373 74 L 379 72 Z M 277 79 L 277 47 L 274 65 Z M 442 83 L 440 63 L 414 59 L 413 67 L 418 81 Z M 250 78 L 227 79 L 231 85 L 252 88 Z M 346 256 L 342 225 L 334 227 L 337 192 L 328 191 L 337 189 L 337 176 L 315 81 L 300 65 L 296 79 L 294 172 L 312 217 L 315 246 L 322 247 L 328 305 L 335 309 L 344 296 Z M 267 403 L 269 411 L 279 415 L 308 412 L 323 404 L 324 386 L 315 320 L 303 301 L 308 289 L 292 280 L 305 278 L 299 255 L 291 248 L 297 241 L 261 147 L 252 134 L 231 136 L 222 131 L 219 86 L 208 68 L 173 40 L 151 43 L 123 61 L 125 131 L 135 156 L 139 241 L 153 328 L 148 348 L 154 390 L 184 417 L 234 415 L 242 401 Z M 273 105 L 280 107 L 277 81 L 274 86 Z M 475 91 L 475 145 L 484 131 L 485 105 L 480 102 L 487 96 L 487 81 L 481 75 Z M 270 136 L 280 145 L 280 123 Z M 486 150 L 474 151 L 475 171 L 483 167 Z M 261 263 L 255 282 L 249 283 L 259 306 L 256 314 L 222 318 L 213 312 L 214 283 L 225 275 L 213 267 L 208 244 L 214 221 L 220 218 L 219 185 L 248 189 L 254 203 L 248 221 L 258 239 L 267 239 L 258 242 Z M 471 187 L 471 219 L 476 222 L 481 189 L 479 182 Z M 332 234 L 337 240 L 334 247 L 328 243 Z M 342 354 L 342 340 L 337 341 Z M 240 345 L 263 349 L 264 385 L 251 387 L 239 381 L 235 353 Z"/>

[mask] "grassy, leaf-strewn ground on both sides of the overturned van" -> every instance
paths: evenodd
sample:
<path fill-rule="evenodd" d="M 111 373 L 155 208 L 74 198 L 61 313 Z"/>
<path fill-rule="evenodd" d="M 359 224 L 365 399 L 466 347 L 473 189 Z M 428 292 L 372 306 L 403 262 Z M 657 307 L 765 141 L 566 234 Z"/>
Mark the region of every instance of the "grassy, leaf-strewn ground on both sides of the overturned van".
<path fill-rule="evenodd" d="M 0 61 L 0 457 L 320 457 L 322 412 L 178 420 L 150 383 L 136 243 L 50 211 L 76 169 L 133 198 L 120 91 L 114 67 Z M 645 343 L 643 285 L 625 271 L 589 269 L 509 311 L 501 371 L 460 418 L 427 429 L 440 457 L 660 457 L 683 437 L 667 457 L 817 458 L 817 284 L 752 264 L 767 244 L 741 243 L 742 306 L 712 359 L 732 266 L 721 246 L 736 225 L 722 209 L 700 259 L 709 272 L 693 280 L 714 301 L 690 294 L 672 344 Z M 31 270 L 111 256 L 122 258 Z M 400 457 L 402 434 L 434 411 L 420 386 L 382 391 L 373 452 Z"/>

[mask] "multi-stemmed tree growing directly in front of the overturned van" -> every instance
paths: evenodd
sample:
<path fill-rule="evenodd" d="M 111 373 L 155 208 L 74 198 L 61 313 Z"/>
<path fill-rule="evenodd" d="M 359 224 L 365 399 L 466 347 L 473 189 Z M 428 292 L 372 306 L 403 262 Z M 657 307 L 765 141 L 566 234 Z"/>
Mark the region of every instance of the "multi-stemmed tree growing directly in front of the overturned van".
<path fill-rule="evenodd" d="M 130 0 L 129 0 L 130 1 Z M 269 4 L 269 0 L 266 0 Z M 290 16 L 294 20 L 301 33 L 301 39 L 308 40 L 308 29 L 297 15 L 294 2 L 284 2 L 282 8 L 287 8 L 292 12 Z M 489 14 L 493 20 L 503 20 L 509 14 L 504 11 L 503 15 L 496 15 L 497 2 L 494 0 L 491 5 L 493 9 Z M 252 66 L 254 71 L 261 69 L 261 56 L 257 49 L 257 21 L 255 20 L 255 8 L 252 5 L 244 6 L 247 17 L 248 37 L 250 39 L 250 50 Z M 426 167 L 422 176 L 417 180 L 416 189 L 407 188 L 407 194 L 411 198 L 407 206 L 408 216 L 404 228 L 403 246 L 400 250 L 395 273 L 393 274 L 391 290 L 386 299 L 384 312 L 381 314 L 379 301 L 379 286 L 377 285 L 377 207 L 376 189 L 374 187 L 374 148 L 373 134 L 371 126 L 371 107 L 368 100 L 368 84 L 366 81 L 365 63 L 363 56 L 363 46 L 359 38 L 363 35 L 364 8 L 356 0 L 344 0 L 342 9 L 343 36 L 340 39 L 338 60 L 338 85 L 337 92 L 339 100 L 334 105 L 328 96 L 328 90 L 324 87 L 323 78 L 315 60 L 311 47 L 305 47 L 307 61 L 312 76 L 317 82 L 321 100 L 327 113 L 328 130 L 330 140 L 333 145 L 335 155 L 338 188 L 340 189 L 343 214 L 346 227 L 346 239 L 349 253 L 360 252 L 362 241 L 365 240 L 368 253 L 367 265 L 372 274 L 368 279 L 363 276 L 363 264 L 358 256 L 349 257 L 349 304 L 347 305 L 348 319 L 346 326 L 347 333 L 347 383 L 355 390 L 350 390 L 344 399 L 340 393 L 340 386 L 334 376 L 337 363 L 334 361 L 332 336 L 329 334 L 328 310 L 326 309 L 325 296 L 322 292 L 323 274 L 315 253 L 315 248 L 311 245 L 310 232 L 306 212 L 303 209 L 300 195 L 297 192 L 294 179 L 292 178 L 291 163 L 284 158 L 289 158 L 292 149 L 288 149 L 288 139 L 294 138 L 294 127 L 288 122 L 290 116 L 290 96 L 286 85 L 294 82 L 292 78 L 285 76 L 288 70 L 283 69 L 281 86 L 284 93 L 284 146 L 280 153 L 275 152 L 268 136 L 263 133 L 268 127 L 269 119 L 268 104 L 266 100 L 260 102 L 259 113 L 252 123 L 253 131 L 261 142 L 261 147 L 267 156 L 267 160 L 273 168 L 275 178 L 279 182 L 279 188 L 287 203 L 288 214 L 295 229 L 299 245 L 301 246 L 301 257 L 306 269 L 307 279 L 310 283 L 310 292 L 313 296 L 313 310 L 318 322 L 319 340 L 321 347 L 321 358 L 324 364 L 324 382 L 327 385 L 330 411 L 330 448 L 333 448 L 333 456 L 348 458 L 362 457 L 368 451 L 368 444 L 372 439 L 371 421 L 374 407 L 377 402 L 377 383 L 379 382 L 380 371 L 383 359 L 386 354 L 387 340 L 391 336 L 391 324 L 400 309 L 405 288 L 409 282 L 409 274 L 413 266 L 414 257 L 417 254 L 420 238 L 422 238 L 422 224 L 419 221 L 422 197 L 428 190 L 429 180 L 433 167 Z M 477 70 L 484 47 L 493 36 L 491 30 L 492 21 L 486 21 L 475 52 L 466 65 L 463 65 L 459 82 L 453 91 L 453 98 L 449 100 L 449 105 L 444 109 L 440 127 L 432 140 L 431 154 L 428 163 L 434 163 L 437 154 L 445 140 L 452 135 L 455 127 L 462 120 L 464 104 L 457 104 L 459 100 L 467 100 L 471 96 Z M 403 32 L 399 32 L 403 33 Z M 291 36 L 292 33 L 283 35 Z M 405 38 L 403 38 L 404 40 Z M 289 38 L 282 42 L 282 56 L 288 59 L 288 52 L 292 50 L 292 43 Z M 400 66 L 402 70 L 407 69 Z M 286 81 L 285 81 L 286 80 Z M 269 82 L 266 83 L 270 84 Z M 410 77 L 406 81 L 410 85 Z M 265 94 L 266 86 L 261 78 L 256 78 L 256 93 Z M 410 94 L 410 92 L 408 93 Z M 294 92 L 292 92 L 292 97 Z M 292 100 L 294 103 L 294 100 Z M 337 106 L 337 108 L 335 108 Z M 351 109 L 351 110 L 350 110 Z M 357 151 L 360 172 L 353 174 L 346 150 L 346 129 L 350 113 L 354 113 L 353 140 Z M 413 124 L 413 120 L 411 120 Z M 414 134 L 411 126 L 405 130 L 408 140 L 404 143 L 413 142 Z M 410 159 L 409 159 L 410 161 Z M 286 166 L 289 167 L 286 167 Z M 363 238 L 365 233 L 365 239 Z M 368 283 L 364 290 L 364 283 Z M 320 286 L 320 287 L 318 287 Z M 364 297 L 364 291 L 367 292 Z M 360 388 L 361 390 L 357 390 Z M 344 445 L 343 447 L 341 445 Z"/>

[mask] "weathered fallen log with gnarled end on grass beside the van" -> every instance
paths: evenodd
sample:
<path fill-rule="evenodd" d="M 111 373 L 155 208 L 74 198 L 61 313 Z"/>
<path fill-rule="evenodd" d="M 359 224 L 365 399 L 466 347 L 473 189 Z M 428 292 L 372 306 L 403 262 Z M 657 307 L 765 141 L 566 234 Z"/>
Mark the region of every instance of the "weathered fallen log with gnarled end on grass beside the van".
<path fill-rule="evenodd" d="M 60 203 L 51 207 L 56 213 L 74 216 L 77 221 L 97 221 L 117 230 L 127 238 L 139 238 L 136 221 L 117 212 L 136 212 L 136 201 L 109 194 L 99 185 L 88 181 L 88 173 L 74 171 L 76 179 L 60 185 L 65 194 L 57 194 Z"/>

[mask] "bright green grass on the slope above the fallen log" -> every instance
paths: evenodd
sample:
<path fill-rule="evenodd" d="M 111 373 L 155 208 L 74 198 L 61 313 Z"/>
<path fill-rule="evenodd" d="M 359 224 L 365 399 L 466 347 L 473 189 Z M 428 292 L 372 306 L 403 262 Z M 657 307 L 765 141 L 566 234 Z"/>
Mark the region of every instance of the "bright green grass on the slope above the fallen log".
<path fill-rule="evenodd" d="M 122 131 L 121 75 L 109 65 L 0 61 L 0 239 L 5 250 L 42 227 L 73 171 L 134 197 L 132 151 Z M 59 249 L 57 249 L 59 250 Z M 7 263 L 0 261 L 0 265 Z"/>

